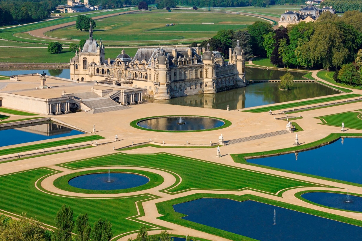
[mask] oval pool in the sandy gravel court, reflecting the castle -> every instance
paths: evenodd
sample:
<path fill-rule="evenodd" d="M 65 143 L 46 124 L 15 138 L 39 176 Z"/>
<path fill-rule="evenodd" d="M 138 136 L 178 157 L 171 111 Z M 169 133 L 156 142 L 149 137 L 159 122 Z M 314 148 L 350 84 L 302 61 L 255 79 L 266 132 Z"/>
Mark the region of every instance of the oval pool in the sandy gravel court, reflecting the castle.
<path fill-rule="evenodd" d="M 189 131 L 213 129 L 225 124 L 224 121 L 197 116 L 166 116 L 141 120 L 137 125 L 152 130 Z"/>

